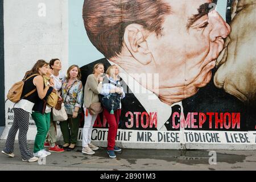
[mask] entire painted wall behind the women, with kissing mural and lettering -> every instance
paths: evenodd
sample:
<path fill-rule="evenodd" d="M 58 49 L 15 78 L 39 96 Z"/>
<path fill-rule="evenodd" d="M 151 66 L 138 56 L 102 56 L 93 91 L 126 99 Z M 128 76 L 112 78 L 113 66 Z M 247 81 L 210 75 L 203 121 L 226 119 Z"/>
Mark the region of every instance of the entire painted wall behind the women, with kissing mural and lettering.
<path fill-rule="evenodd" d="M 8 0 L 5 93 L 38 59 L 59 57 L 63 73 L 79 65 L 83 84 L 95 64 L 115 64 L 126 93 L 119 146 L 255 150 L 255 11 L 252 0 Z M 101 113 L 92 141 L 107 137 Z"/>

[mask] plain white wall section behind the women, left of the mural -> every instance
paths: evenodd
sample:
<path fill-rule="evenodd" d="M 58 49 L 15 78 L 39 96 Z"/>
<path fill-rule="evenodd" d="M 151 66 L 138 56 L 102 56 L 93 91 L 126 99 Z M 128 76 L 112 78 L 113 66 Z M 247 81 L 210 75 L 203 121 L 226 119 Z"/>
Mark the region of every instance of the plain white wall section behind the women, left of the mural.
<path fill-rule="evenodd" d="M 5 98 L 14 82 L 39 59 L 59 58 L 63 70 L 68 68 L 68 0 L 8 0 L 3 3 L 5 38 Z M 7 137 L 13 122 L 13 105 L 5 105 Z M 34 139 L 36 128 L 30 121 L 28 139 Z"/>

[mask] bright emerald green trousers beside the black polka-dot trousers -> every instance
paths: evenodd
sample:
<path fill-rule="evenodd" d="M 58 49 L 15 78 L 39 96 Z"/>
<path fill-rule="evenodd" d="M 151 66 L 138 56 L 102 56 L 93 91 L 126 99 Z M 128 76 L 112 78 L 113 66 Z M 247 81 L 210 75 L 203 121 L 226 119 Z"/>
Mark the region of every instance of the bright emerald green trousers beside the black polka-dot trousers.
<path fill-rule="evenodd" d="M 36 134 L 34 153 L 44 149 L 44 140 L 49 130 L 49 123 L 51 120 L 51 113 L 42 114 L 38 111 L 32 113 L 38 133 Z"/>

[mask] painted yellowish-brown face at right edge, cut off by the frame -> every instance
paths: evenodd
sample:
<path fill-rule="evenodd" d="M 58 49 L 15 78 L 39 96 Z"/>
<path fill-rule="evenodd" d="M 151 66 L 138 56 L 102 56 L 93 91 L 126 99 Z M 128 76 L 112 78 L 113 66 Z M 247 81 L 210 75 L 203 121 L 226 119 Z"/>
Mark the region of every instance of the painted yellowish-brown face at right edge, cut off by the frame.
<path fill-rule="evenodd" d="M 217 59 L 219 68 L 214 75 L 218 88 L 253 105 L 256 105 L 255 5 L 252 0 L 233 1 L 232 33 Z"/>

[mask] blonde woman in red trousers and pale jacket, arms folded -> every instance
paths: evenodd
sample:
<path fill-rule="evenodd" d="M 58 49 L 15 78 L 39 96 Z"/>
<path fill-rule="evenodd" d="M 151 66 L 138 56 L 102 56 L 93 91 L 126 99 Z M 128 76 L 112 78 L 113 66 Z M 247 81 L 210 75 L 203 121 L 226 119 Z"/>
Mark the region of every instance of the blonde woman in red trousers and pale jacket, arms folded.
<path fill-rule="evenodd" d="M 108 96 L 109 94 L 117 93 L 121 98 L 125 97 L 123 92 L 121 80 L 119 77 L 119 68 L 117 65 L 110 66 L 106 71 L 106 77 L 104 78 L 101 95 Z M 115 137 L 117 137 L 117 129 L 119 123 L 119 116 L 121 114 L 121 102 L 119 109 L 115 110 L 114 113 L 109 112 L 104 107 L 103 114 L 109 123 L 108 131 L 108 154 L 110 158 L 115 158 L 115 152 L 120 152 L 121 148 L 115 146 Z"/>

